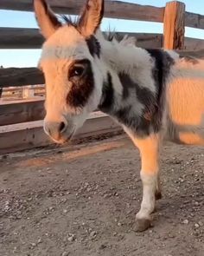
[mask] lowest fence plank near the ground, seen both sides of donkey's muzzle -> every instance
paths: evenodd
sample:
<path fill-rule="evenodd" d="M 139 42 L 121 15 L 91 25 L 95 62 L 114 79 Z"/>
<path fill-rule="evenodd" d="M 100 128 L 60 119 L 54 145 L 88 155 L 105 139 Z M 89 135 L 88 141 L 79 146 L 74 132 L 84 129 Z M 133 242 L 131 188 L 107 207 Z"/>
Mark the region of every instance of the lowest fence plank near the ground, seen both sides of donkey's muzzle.
<path fill-rule="evenodd" d="M 74 138 L 80 139 L 95 135 L 105 135 L 121 130 L 122 128 L 107 115 L 92 114 Z M 53 143 L 48 138 L 48 135 L 45 135 L 42 121 L 23 123 L 12 127 L 1 127 L 0 141 L 0 154 L 46 146 Z"/>

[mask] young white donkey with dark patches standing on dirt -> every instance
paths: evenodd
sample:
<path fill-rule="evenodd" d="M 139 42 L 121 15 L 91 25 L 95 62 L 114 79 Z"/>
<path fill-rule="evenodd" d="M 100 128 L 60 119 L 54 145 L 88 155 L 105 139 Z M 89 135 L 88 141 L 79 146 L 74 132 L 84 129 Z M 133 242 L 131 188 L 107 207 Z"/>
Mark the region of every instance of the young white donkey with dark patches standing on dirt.
<path fill-rule="evenodd" d="M 159 151 L 164 139 L 204 144 L 204 61 L 163 49 L 141 49 L 99 30 L 104 0 L 87 0 L 78 20 L 66 23 L 45 0 L 34 0 L 46 42 L 39 68 L 45 75 L 44 130 L 69 141 L 96 108 L 118 121 L 139 149 L 143 200 L 137 230 L 151 225 L 161 198 Z"/>

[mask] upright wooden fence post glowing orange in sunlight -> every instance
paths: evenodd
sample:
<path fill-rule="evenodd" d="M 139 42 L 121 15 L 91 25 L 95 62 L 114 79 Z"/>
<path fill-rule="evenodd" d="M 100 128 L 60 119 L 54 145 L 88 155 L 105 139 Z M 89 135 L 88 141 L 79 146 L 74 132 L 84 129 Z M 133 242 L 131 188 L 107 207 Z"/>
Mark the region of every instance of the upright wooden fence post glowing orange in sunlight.
<path fill-rule="evenodd" d="M 163 48 L 183 49 L 185 34 L 185 3 L 166 3 L 163 19 Z"/>

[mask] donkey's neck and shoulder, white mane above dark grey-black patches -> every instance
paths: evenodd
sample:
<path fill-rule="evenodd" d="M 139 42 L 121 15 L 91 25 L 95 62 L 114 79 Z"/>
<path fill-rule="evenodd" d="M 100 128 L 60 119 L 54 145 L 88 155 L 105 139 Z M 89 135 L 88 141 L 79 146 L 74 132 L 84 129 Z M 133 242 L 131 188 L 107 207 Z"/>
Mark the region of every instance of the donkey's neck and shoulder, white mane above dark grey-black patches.
<path fill-rule="evenodd" d="M 140 49 L 123 41 L 108 42 L 101 35 L 97 39 L 107 74 L 99 109 L 137 135 L 158 131 L 162 123 L 158 108 L 163 108 L 160 98 L 165 93 L 158 64 L 163 69 L 167 62 L 169 67 L 169 56 L 161 50 Z"/>

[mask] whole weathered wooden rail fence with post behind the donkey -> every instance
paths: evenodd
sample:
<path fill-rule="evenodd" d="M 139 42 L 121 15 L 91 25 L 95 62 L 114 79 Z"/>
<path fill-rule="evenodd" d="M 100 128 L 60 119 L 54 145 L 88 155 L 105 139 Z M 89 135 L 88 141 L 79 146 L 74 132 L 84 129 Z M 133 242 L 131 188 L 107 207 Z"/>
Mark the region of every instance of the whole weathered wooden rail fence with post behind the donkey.
<path fill-rule="evenodd" d="M 76 15 L 86 0 L 49 0 L 57 13 Z M 1 0 L 2 10 L 32 11 L 32 0 Z M 184 36 L 185 26 L 204 30 L 204 16 L 185 11 L 185 4 L 169 2 L 163 8 L 136 3 L 105 1 L 105 16 L 110 18 L 163 23 L 162 34 L 129 33 L 137 38 L 137 46 L 143 48 L 204 49 L 204 40 Z M 123 34 L 118 32 L 119 34 Z M 39 49 L 43 39 L 36 29 L 0 28 L 0 49 Z M 0 89 L 43 84 L 44 78 L 36 68 L 0 69 Z M 42 131 L 45 115 L 43 99 L 1 102 L 0 104 L 0 154 L 22 148 L 48 144 Z M 79 135 L 92 135 L 118 130 L 109 117 L 93 113 Z"/>

